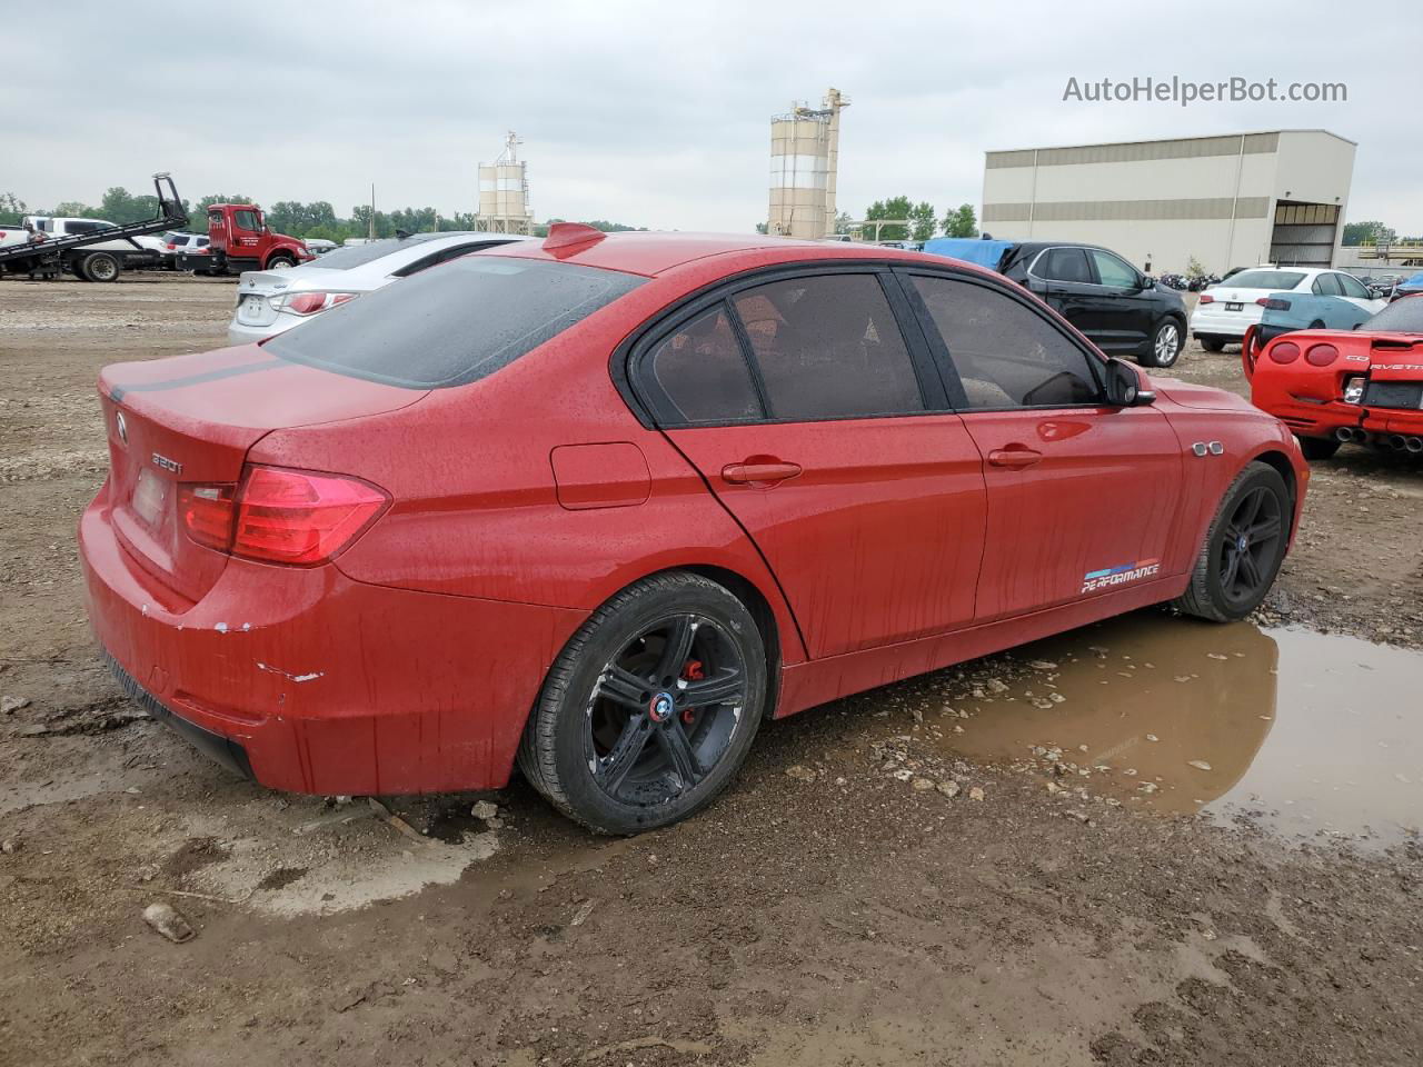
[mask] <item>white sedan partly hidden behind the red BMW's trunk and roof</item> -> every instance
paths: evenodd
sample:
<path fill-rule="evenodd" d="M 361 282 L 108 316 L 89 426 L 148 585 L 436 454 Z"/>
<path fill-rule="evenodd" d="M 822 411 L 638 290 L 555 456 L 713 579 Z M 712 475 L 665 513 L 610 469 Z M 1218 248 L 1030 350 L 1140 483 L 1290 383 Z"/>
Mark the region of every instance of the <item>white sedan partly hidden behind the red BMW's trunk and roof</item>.
<path fill-rule="evenodd" d="M 383 289 L 435 263 L 529 238 L 512 233 L 411 233 L 327 252 L 282 270 L 243 270 L 228 341 L 248 344 L 300 326 L 313 314 Z"/>

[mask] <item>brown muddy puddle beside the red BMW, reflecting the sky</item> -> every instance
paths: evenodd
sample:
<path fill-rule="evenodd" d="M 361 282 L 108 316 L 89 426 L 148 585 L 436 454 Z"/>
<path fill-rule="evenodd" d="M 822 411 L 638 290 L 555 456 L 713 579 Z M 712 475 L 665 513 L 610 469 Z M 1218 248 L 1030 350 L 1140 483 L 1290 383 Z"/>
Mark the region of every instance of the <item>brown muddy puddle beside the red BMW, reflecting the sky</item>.
<path fill-rule="evenodd" d="M 952 753 L 1032 763 L 1070 800 L 1245 814 L 1289 835 L 1390 844 L 1423 824 L 1417 652 L 1138 613 L 1013 659 L 1027 674 L 959 704 L 975 714 Z"/>

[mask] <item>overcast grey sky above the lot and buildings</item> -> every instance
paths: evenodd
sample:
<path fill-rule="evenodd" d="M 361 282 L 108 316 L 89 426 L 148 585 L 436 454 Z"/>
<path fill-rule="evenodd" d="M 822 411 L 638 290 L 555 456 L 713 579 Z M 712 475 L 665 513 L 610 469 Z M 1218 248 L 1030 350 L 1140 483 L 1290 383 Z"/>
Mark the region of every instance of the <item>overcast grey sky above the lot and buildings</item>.
<path fill-rule="evenodd" d="M 203 10 L 211 14 L 202 14 Z M 773 114 L 847 92 L 840 202 L 975 208 L 983 152 L 1322 127 L 1359 144 L 1349 221 L 1423 232 L 1423 4 L 4 0 L 0 192 L 110 185 L 262 203 L 371 182 L 380 208 L 472 211 L 524 138 L 538 218 L 748 232 Z M 34 47 L 28 47 L 33 43 Z M 1342 81 L 1348 102 L 1087 104 L 1069 77 Z"/>

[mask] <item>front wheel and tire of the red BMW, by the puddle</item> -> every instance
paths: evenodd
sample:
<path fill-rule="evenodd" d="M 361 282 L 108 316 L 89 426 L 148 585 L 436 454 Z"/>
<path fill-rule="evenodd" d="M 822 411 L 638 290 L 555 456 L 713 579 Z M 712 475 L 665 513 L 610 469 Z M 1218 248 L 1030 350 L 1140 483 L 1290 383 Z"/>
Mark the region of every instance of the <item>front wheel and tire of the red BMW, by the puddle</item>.
<path fill-rule="evenodd" d="M 1257 511 L 1251 512 L 1255 501 Z M 1259 607 L 1285 562 L 1292 515 L 1289 489 L 1279 471 L 1264 462 L 1249 464 L 1221 498 L 1191 570 L 1191 583 L 1173 606 L 1211 622 L 1244 619 Z M 1247 538 L 1244 546 L 1241 535 Z M 1248 588 L 1242 589 L 1242 583 Z"/>

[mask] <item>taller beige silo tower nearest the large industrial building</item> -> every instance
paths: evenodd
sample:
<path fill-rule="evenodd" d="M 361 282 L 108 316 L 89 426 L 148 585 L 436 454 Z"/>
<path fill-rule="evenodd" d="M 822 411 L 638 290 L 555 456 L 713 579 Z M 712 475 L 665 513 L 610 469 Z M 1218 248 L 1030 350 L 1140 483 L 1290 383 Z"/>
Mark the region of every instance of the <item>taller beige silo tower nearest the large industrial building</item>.
<path fill-rule="evenodd" d="M 847 107 L 850 98 L 831 88 L 820 108 L 793 104 L 771 118 L 768 233 L 814 240 L 835 232 L 840 111 Z"/>

